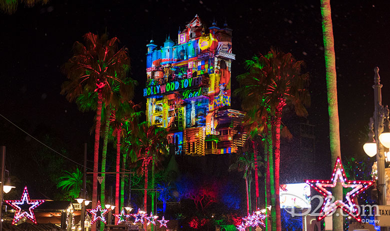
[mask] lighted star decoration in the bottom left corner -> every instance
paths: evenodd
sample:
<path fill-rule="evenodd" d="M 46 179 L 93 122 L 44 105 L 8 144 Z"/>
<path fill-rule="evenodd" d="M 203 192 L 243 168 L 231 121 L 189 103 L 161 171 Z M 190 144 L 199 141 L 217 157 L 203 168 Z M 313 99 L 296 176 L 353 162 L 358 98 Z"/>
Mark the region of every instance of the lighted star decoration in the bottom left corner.
<path fill-rule="evenodd" d="M 30 200 L 27 186 L 25 186 L 19 201 L 8 200 L 5 202 L 16 210 L 15 215 L 13 216 L 12 225 L 16 224 L 22 218 L 27 218 L 36 224 L 33 210 L 40 206 L 44 200 Z"/>

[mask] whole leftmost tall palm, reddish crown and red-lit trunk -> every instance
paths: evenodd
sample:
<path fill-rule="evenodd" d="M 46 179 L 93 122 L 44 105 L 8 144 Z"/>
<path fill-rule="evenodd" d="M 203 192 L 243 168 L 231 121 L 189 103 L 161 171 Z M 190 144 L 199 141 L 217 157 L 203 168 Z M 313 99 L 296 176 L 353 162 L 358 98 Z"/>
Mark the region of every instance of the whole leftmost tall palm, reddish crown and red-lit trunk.
<path fill-rule="evenodd" d="M 114 88 L 118 87 L 119 95 L 131 100 L 133 85 L 127 71 L 130 61 L 127 50 L 118 49 L 119 40 L 108 39 L 106 34 L 98 36 L 93 33 L 84 35 L 85 45 L 76 41 L 73 45 L 73 56 L 62 66 L 68 81 L 61 87 L 61 94 L 66 94 L 69 101 L 81 94 L 97 95 L 96 124 L 93 157 L 92 207 L 97 204 L 97 172 L 101 109 L 105 105 L 115 103 Z M 94 228 L 93 228 L 94 230 Z"/>

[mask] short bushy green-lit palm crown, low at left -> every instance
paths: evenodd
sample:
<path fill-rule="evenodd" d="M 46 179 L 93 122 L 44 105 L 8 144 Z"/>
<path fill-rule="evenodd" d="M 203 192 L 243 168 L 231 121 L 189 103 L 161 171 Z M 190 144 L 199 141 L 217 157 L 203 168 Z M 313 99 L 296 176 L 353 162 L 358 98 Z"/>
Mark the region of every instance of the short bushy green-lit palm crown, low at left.
<path fill-rule="evenodd" d="M 80 194 L 82 188 L 83 174 L 77 168 L 75 172 L 69 173 L 68 171 L 63 171 L 64 176 L 59 178 L 57 183 L 57 188 L 62 188 L 66 190 L 70 200 L 77 198 Z"/>

